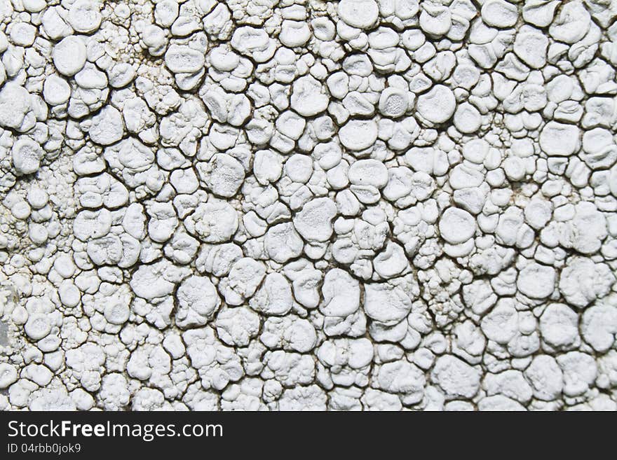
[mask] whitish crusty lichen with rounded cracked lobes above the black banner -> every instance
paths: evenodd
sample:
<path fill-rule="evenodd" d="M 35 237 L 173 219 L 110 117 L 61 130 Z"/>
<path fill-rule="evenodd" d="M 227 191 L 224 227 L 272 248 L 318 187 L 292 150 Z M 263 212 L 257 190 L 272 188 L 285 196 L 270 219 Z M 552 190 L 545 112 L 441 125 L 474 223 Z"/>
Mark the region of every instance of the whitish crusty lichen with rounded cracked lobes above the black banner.
<path fill-rule="evenodd" d="M 616 19 L 0 0 L 0 410 L 617 410 Z"/>

